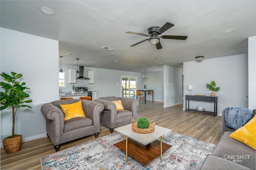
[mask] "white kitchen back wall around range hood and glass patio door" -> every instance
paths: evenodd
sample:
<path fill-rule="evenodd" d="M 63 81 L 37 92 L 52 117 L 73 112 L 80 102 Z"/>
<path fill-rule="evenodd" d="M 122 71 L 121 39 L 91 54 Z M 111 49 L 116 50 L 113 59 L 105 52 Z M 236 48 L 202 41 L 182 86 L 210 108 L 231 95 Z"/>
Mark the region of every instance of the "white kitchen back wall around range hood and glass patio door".
<path fill-rule="evenodd" d="M 77 66 L 62 64 L 62 70 L 66 72 L 66 80 L 68 80 L 68 69 L 77 69 Z M 122 96 L 121 76 L 138 77 L 138 88 L 142 88 L 142 74 L 140 72 L 129 72 L 120 70 L 110 70 L 104 68 L 84 67 L 84 76 L 87 76 L 87 71 L 94 71 L 94 84 L 87 84 L 88 80 L 76 80 L 76 87 L 88 87 L 89 91 L 97 91 L 97 97 L 104 96 Z M 78 75 L 78 74 L 77 74 Z M 118 85 L 117 85 L 118 84 Z M 66 87 L 60 87 L 60 92 L 72 91 L 73 84 L 66 81 Z"/>

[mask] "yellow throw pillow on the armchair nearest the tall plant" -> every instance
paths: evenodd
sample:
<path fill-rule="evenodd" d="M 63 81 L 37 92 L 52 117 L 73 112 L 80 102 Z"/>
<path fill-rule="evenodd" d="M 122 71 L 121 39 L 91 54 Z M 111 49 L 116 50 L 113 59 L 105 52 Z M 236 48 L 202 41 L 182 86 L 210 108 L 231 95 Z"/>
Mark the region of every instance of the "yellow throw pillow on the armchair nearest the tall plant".
<path fill-rule="evenodd" d="M 64 121 L 75 117 L 86 117 L 82 107 L 82 101 L 72 104 L 61 104 L 60 107 L 65 115 Z"/>

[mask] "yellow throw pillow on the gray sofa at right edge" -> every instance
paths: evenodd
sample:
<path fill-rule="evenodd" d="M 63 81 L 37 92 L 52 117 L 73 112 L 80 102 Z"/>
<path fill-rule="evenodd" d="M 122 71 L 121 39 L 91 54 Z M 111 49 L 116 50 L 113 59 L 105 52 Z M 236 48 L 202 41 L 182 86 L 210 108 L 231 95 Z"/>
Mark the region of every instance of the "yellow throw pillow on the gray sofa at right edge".
<path fill-rule="evenodd" d="M 256 115 L 244 126 L 231 133 L 229 137 L 256 149 Z"/>

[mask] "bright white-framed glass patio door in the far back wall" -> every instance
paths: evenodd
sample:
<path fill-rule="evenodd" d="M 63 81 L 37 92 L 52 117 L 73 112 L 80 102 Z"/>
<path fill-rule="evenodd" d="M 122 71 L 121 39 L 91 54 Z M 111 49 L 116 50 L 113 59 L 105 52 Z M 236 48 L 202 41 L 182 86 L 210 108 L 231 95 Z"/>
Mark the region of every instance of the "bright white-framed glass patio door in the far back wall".
<path fill-rule="evenodd" d="M 122 78 L 122 97 L 136 98 L 137 77 L 121 76 Z"/>

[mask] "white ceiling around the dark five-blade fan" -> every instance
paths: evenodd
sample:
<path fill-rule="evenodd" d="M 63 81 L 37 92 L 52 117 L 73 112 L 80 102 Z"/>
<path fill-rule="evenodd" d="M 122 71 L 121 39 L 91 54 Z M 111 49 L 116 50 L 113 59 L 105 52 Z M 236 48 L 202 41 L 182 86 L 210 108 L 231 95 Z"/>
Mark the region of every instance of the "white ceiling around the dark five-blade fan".
<path fill-rule="evenodd" d="M 54 10 L 54 15 L 42 13 L 42 6 Z M 248 37 L 256 35 L 255 0 L 1 0 L 0 17 L 1 27 L 58 40 L 63 64 L 76 65 L 78 58 L 82 66 L 133 72 L 180 67 L 197 56 L 247 53 Z M 166 22 L 174 26 L 162 35 L 188 38 L 160 39 L 159 51 L 148 41 L 130 47 L 148 38 L 127 31 L 148 34 L 149 27 Z M 235 31 L 223 33 L 230 28 Z"/>

